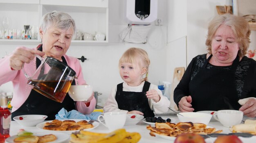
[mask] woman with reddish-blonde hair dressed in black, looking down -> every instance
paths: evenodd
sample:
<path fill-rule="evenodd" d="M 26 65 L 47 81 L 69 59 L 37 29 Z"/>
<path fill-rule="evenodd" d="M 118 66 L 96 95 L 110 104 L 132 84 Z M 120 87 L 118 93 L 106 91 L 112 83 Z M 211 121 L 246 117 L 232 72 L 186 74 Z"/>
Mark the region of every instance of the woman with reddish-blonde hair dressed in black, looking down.
<path fill-rule="evenodd" d="M 193 58 L 174 90 L 181 112 L 233 109 L 256 117 L 256 61 L 245 56 L 250 34 L 243 17 L 224 14 L 210 22 L 208 53 Z"/>

